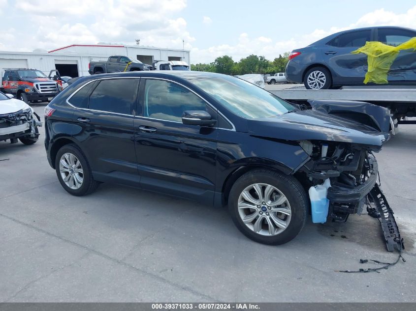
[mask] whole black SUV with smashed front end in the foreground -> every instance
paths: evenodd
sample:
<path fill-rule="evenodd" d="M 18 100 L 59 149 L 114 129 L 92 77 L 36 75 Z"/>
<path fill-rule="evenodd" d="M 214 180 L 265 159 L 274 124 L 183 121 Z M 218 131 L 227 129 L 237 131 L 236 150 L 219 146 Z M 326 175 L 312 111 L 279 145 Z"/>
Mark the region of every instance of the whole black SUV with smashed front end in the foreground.
<path fill-rule="evenodd" d="M 359 211 L 376 184 L 372 151 L 389 138 L 382 107 L 311 106 L 214 73 L 84 77 L 45 108 L 45 147 L 72 195 L 113 182 L 228 205 L 246 236 L 282 244 L 305 224 L 308 189 L 326 179 L 328 219 Z"/>

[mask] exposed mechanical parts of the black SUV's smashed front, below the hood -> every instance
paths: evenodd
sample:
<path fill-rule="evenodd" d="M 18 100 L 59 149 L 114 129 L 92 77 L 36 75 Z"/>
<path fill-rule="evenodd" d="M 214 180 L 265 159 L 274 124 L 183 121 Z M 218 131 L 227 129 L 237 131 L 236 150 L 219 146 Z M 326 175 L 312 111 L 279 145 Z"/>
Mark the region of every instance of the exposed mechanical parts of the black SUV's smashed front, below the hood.
<path fill-rule="evenodd" d="M 301 141 L 311 160 L 299 171 L 311 186 L 329 179 L 328 217 L 346 222 L 350 214 L 362 214 L 366 196 L 378 178 L 377 160 L 369 147 L 352 143 Z"/>

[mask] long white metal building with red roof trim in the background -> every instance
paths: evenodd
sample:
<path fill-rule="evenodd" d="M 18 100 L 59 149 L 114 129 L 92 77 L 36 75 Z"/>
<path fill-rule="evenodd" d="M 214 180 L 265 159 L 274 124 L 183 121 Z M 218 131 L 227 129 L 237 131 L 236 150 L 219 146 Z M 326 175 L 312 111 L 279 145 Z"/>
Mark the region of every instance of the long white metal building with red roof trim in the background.
<path fill-rule="evenodd" d="M 0 51 L 0 68 L 39 69 L 46 75 L 58 69 L 62 76 L 88 76 L 90 61 L 124 55 L 152 64 L 153 60 L 184 60 L 191 63 L 190 51 L 128 45 L 72 44 L 45 53 Z"/>

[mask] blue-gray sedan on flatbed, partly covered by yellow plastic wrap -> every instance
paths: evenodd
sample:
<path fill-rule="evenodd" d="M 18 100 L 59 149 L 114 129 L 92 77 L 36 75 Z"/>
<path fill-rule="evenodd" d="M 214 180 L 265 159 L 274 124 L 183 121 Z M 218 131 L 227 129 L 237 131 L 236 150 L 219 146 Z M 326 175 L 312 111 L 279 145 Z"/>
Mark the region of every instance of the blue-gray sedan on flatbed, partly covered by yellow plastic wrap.
<path fill-rule="evenodd" d="M 412 37 L 416 30 L 399 27 L 372 27 L 334 33 L 306 48 L 293 50 L 286 66 L 289 82 L 303 83 L 308 89 L 328 89 L 343 85 L 363 85 L 367 72 L 367 56 L 351 54 L 367 41 L 380 41 L 398 46 Z M 401 51 L 390 67 L 389 84 L 414 85 L 416 52 Z"/>

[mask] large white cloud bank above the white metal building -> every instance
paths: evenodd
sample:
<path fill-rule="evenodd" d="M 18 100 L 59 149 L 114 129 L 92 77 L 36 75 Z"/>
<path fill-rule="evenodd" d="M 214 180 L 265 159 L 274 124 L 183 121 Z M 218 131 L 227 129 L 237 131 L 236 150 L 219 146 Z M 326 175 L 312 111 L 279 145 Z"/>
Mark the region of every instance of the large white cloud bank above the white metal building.
<path fill-rule="evenodd" d="M 0 0 L 0 7 L 5 0 Z M 55 49 L 72 43 L 121 42 L 182 49 L 182 40 L 190 45 L 195 38 L 187 30 L 187 22 L 176 17 L 187 0 L 56 0 L 9 1 L 8 8 L 30 21 L 33 35 L 19 30 L 14 40 L 0 45 L 2 50 L 36 48 Z M 51 8 L 51 9 L 45 9 Z M 2 11 L 2 10 L 1 10 Z M 25 37 L 22 46 L 18 38 Z"/>

